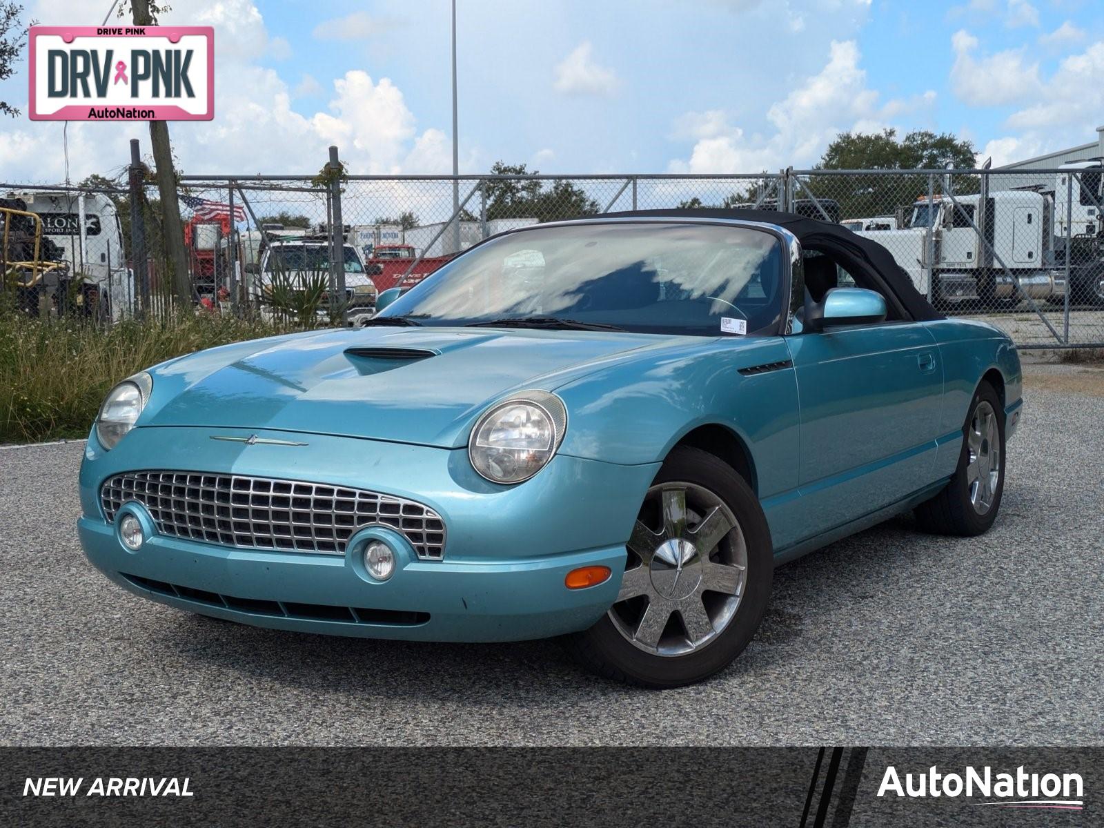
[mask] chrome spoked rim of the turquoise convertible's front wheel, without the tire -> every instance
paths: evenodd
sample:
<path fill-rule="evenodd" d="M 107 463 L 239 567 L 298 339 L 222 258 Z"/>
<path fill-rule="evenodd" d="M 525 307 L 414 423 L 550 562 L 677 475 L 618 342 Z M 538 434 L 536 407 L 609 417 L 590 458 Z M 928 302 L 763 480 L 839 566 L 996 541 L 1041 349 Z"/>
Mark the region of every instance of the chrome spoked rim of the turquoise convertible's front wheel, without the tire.
<path fill-rule="evenodd" d="M 628 541 L 614 627 L 635 647 L 681 656 L 720 635 L 740 606 L 747 546 L 732 510 L 687 482 L 652 486 Z"/>

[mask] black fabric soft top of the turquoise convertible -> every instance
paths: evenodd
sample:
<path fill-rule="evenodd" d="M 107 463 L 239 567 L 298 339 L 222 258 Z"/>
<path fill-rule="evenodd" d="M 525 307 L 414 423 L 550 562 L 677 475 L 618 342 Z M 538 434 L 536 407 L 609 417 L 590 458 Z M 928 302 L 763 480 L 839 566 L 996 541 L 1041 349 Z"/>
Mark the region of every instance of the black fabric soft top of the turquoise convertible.
<path fill-rule="evenodd" d="M 774 210 L 720 210 L 710 208 L 682 210 L 631 210 L 619 213 L 603 213 L 591 219 L 728 219 L 732 221 L 763 222 L 777 224 L 797 236 L 803 247 L 810 250 L 828 248 L 850 254 L 852 257 L 872 268 L 896 297 L 901 306 L 913 319 L 923 321 L 943 319 L 943 315 L 933 308 L 916 290 L 912 278 L 896 263 L 893 254 L 866 236 L 860 236 L 842 226 L 819 219 L 808 219 L 794 213 L 779 213 Z"/>

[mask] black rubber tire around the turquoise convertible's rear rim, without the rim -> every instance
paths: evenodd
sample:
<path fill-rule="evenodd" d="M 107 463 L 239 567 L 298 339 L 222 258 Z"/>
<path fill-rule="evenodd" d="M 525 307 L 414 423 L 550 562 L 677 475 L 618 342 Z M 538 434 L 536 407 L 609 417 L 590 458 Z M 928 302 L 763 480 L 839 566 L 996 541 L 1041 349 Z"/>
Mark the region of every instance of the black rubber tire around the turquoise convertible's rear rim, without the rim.
<path fill-rule="evenodd" d="M 990 487 L 992 490 L 991 500 L 987 510 L 979 513 L 972 500 L 973 484 L 968 479 L 972 460 L 968 434 L 972 431 L 975 415 L 983 403 L 992 410 L 996 420 L 999 463 L 997 482 Z M 938 495 L 924 501 L 915 509 L 916 522 L 920 528 L 935 534 L 952 534 L 964 538 L 987 532 L 997 519 L 997 512 L 1000 511 L 1000 500 L 1005 491 L 1005 408 L 992 385 L 983 381 L 978 384 L 977 391 L 974 392 L 969 412 L 966 414 L 966 422 L 963 424 L 962 452 L 958 455 L 958 466 L 955 468 L 951 482 Z"/>

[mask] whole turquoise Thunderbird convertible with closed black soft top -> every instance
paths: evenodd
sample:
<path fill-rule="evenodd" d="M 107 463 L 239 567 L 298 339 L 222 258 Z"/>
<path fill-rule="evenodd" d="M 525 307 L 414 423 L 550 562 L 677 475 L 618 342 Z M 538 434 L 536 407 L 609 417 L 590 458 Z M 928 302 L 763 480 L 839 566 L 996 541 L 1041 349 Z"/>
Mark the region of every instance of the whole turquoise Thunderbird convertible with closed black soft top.
<path fill-rule="evenodd" d="M 673 687 L 743 650 L 779 563 L 910 509 L 986 531 L 1020 385 L 1008 337 L 944 319 L 838 225 L 535 225 L 368 328 L 121 382 L 88 438 L 79 534 L 120 586 L 201 615 L 562 635 L 602 675 Z"/>

